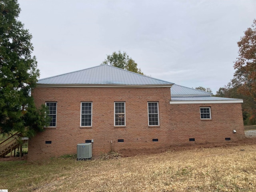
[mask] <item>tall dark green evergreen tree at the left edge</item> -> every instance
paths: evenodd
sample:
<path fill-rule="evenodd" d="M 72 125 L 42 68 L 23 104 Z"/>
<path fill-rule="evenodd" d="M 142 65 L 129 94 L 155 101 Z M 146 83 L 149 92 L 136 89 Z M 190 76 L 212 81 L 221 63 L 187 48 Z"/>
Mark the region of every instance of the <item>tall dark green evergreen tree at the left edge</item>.
<path fill-rule="evenodd" d="M 39 70 L 32 57 L 32 35 L 17 20 L 17 0 L 0 0 L 0 133 L 33 136 L 49 122 L 45 106 L 37 109 L 31 90 Z"/>

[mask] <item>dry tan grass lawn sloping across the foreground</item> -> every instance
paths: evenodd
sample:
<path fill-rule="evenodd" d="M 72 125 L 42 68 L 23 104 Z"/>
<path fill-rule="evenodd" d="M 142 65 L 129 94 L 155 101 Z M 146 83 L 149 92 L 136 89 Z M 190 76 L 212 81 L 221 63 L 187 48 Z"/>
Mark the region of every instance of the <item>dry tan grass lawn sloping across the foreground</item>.
<path fill-rule="evenodd" d="M 194 148 L 134 157 L 0 162 L 0 188 L 33 192 L 254 192 L 256 146 Z"/>

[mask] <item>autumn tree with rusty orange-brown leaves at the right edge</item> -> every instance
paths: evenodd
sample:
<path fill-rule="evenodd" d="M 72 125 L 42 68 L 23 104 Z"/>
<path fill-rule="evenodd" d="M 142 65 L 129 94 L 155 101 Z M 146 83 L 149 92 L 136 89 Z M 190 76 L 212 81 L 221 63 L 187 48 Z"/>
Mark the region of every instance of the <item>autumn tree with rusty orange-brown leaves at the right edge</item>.
<path fill-rule="evenodd" d="M 238 58 L 234 62 L 236 72 L 232 83 L 239 86 L 238 92 L 251 95 L 256 100 L 256 19 L 237 44 Z"/>

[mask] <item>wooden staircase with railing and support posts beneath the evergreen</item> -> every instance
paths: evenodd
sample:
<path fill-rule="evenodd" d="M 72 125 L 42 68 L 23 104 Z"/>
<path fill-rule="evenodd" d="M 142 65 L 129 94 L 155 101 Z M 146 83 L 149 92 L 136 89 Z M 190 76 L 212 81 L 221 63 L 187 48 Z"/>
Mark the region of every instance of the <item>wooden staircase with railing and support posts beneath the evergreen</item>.
<path fill-rule="evenodd" d="M 21 135 L 17 132 L 13 134 L 12 136 L 8 137 L 6 140 L 0 143 L 0 157 L 5 157 L 7 154 L 11 152 L 12 157 L 12 151 L 14 150 L 14 156 L 15 156 L 15 150 L 16 148 L 20 148 L 20 151 L 22 151 L 22 143 L 26 142 L 28 138 L 21 138 Z M 21 153 L 20 153 L 21 156 Z"/>

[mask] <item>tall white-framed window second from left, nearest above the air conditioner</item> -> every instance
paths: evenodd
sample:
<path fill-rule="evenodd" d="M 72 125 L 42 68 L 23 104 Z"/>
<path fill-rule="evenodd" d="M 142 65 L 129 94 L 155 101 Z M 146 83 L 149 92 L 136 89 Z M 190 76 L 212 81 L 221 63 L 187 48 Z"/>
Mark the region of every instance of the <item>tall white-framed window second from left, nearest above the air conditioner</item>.
<path fill-rule="evenodd" d="M 81 102 L 81 127 L 92 126 L 92 102 Z"/>

